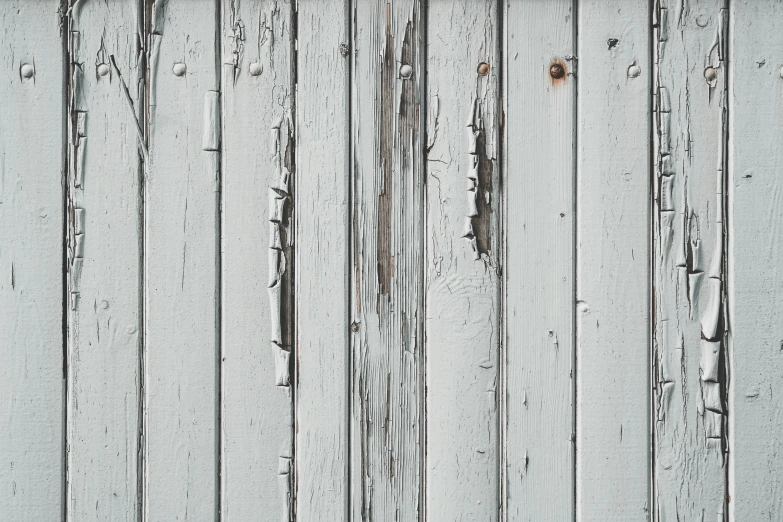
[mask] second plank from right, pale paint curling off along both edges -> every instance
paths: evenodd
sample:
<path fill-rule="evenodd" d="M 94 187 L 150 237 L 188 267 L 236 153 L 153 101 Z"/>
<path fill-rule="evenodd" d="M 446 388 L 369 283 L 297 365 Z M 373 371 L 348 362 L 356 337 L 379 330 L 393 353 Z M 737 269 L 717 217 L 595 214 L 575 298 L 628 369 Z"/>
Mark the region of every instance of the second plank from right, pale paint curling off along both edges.
<path fill-rule="evenodd" d="M 654 502 L 662 521 L 725 512 L 725 6 L 659 0 L 654 13 Z"/>

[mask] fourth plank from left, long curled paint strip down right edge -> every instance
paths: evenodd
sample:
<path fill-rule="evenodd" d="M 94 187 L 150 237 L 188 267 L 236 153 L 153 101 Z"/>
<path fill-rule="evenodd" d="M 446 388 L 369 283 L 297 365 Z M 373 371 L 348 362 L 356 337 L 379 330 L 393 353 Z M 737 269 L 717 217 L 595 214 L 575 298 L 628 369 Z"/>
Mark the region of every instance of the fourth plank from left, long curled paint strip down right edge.
<path fill-rule="evenodd" d="M 294 18 L 271 0 L 222 12 L 221 516 L 289 520 Z"/>

